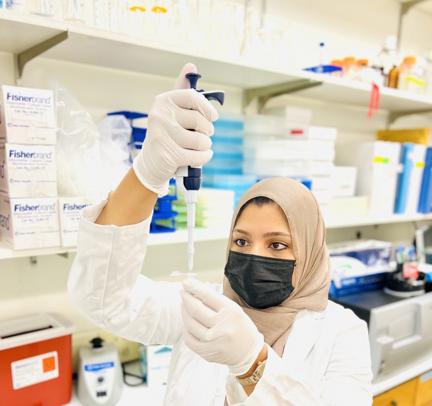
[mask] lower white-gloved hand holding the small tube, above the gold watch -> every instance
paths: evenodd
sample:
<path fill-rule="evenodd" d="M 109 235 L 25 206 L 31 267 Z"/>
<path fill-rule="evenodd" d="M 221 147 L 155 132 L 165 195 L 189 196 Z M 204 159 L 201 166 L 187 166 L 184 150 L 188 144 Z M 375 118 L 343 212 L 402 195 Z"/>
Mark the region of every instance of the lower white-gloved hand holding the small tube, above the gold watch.
<path fill-rule="evenodd" d="M 184 343 L 209 362 L 228 365 L 235 375 L 249 371 L 264 336 L 237 303 L 202 282 L 187 279 L 180 291 Z"/>

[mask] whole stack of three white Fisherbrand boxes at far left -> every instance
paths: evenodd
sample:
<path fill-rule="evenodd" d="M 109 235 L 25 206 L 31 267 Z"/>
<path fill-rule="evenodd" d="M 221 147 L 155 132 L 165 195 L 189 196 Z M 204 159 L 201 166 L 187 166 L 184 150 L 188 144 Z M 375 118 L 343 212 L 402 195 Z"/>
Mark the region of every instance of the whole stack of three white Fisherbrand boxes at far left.
<path fill-rule="evenodd" d="M 3 86 L 0 240 L 33 249 L 60 245 L 52 91 Z"/>

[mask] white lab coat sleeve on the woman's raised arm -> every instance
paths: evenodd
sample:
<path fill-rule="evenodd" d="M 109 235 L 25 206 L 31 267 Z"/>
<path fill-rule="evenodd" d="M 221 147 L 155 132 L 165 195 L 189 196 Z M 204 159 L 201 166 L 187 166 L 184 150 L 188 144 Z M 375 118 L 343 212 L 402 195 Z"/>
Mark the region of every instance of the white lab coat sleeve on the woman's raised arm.
<path fill-rule="evenodd" d="M 99 327 L 128 340 L 172 345 L 182 331 L 181 283 L 140 274 L 151 216 L 123 227 L 95 224 L 106 201 L 81 211 L 70 301 Z"/>

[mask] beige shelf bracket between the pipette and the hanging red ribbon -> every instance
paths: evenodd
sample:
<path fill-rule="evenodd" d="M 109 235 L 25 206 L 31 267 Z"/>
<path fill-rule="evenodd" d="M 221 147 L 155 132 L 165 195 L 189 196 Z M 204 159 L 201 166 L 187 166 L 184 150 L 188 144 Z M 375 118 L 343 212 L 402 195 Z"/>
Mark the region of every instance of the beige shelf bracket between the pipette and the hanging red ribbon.
<path fill-rule="evenodd" d="M 252 100 L 258 98 L 258 112 L 263 113 L 265 104 L 270 98 L 281 96 L 283 94 L 294 93 L 299 90 L 308 89 L 321 84 L 322 82 L 317 80 L 299 79 L 277 85 L 245 89 L 243 93 L 243 110 L 251 104 Z"/>

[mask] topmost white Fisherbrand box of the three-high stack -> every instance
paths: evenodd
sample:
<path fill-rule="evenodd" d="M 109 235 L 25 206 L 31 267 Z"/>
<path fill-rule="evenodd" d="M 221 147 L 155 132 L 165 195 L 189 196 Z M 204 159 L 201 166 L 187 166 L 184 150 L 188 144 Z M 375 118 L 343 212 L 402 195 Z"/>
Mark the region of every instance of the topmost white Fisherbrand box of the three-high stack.
<path fill-rule="evenodd" d="M 52 90 L 2 86 L 0 143 L 55 145 Z"/>

